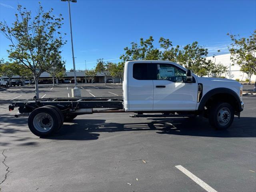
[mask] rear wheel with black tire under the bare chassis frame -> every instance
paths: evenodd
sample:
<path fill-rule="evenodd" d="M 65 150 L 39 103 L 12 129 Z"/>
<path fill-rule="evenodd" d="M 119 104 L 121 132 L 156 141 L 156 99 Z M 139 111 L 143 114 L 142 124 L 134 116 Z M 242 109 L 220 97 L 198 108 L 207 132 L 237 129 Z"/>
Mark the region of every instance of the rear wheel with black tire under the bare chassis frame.
<path fill-rule="evenodd" d="M 39 118 L 40 121 L 36 119 Z M 50 128 L 47 128 L 50 125 Z M 42 126 L 45 126 L 44 128 Z M 31 112 L 28 117 L 30 131 L 39 137 L 52 135 L 60 127 L 60 116 L 56 110 L 50 107 L 40 107 Z M 48 130 L 47 130 L 48 129 Z"/>

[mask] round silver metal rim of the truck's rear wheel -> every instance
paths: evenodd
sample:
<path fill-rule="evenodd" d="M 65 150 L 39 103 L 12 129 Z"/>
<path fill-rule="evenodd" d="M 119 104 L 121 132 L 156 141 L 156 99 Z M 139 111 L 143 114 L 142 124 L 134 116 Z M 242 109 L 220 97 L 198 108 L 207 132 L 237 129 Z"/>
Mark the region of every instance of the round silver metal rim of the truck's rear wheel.
<path fill-rule="evenodd" d="M 47 132 L 52 128 L 53 120 L 47 113 L 38 113 L 33 119 L 33 125 L 39 132 Z"/>

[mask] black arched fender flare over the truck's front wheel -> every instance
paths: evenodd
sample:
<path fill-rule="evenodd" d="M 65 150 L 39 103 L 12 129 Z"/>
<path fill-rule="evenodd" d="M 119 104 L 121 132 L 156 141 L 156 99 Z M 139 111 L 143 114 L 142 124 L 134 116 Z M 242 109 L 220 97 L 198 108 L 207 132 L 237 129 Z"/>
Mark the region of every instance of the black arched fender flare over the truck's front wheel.
<path fill-rule="evenodd" d="M 239 96 L 233 90 L 228 89 L 228 88 L 215 88 L 215 89 L 212 89 L 212 90 L 208 91 L 203 96 L 203 98 L 201 99 L 200 104 L 198 106 L 198 110 L 204 110 L 204 106 L 205 106 L 206 102 L 208 101 L 208 99 L 210 97 L 216 95 L 216 94 L 219 94 L 219 93 L 230 94 L 230 95 L 232 95 L 236 99 L 236 102 L 238 102 L 238 103 L 241 102 Z M 237 110 L 238 111 L 242 111 L 241 105 L 238 105 L 238 109 Z"/>

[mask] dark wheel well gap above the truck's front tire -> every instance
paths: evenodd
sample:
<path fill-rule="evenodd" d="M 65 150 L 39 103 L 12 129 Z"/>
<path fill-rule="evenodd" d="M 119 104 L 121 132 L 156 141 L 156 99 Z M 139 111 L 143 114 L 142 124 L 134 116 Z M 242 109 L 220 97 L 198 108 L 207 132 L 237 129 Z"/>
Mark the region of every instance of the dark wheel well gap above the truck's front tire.
<path fill-rule="evenodd" d="M 204 108 L 209 109 L 216 102 L 229 103 L 234 108 L 235 111 L 238 110 L 238 103 L 237 103 L 236 98 L 233 95 L 228 94 L 228 93 L 214 94 L 207 100 L 207 102 L 204 105 Z"/>

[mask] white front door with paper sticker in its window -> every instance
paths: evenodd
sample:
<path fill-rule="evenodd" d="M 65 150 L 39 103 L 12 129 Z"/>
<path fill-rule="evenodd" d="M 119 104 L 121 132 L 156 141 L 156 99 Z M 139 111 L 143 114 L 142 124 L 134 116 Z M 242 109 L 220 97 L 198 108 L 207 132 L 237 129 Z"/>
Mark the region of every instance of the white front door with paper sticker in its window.
<path fill-rule="evenodd" d="M 154 111 L 196 110 L 198 84 L 186 83 L 186 71 L 168 63 L 155 66 Z"/>

